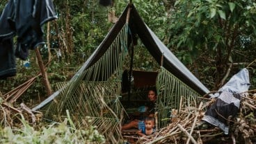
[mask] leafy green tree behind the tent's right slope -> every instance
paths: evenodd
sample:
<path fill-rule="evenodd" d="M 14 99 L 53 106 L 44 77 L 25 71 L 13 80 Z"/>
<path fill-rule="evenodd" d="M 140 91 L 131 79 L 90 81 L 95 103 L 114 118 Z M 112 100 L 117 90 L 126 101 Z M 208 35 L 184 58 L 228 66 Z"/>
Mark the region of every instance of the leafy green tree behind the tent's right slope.
<path fill-rule="evenodd" d="M 248 50 L 255 44 L 255 12 L 253 1 L 177 0 L 170 13 L 168 46 L 178 55 L 187 51 L 181 59 L 186 64 L 216 67 L 218 85 L 227 63 L 254 60 Z"/>

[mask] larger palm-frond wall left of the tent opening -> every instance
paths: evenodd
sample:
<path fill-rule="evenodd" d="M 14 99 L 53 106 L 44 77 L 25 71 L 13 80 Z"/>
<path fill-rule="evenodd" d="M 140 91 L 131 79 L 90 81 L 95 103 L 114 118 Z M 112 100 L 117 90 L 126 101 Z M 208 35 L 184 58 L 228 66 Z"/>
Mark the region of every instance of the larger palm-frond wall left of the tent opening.
<path fill-rule="evenodd" d="M 122 66 L 127 55 L 127 28 L 125 25 L 120 30 L 95 64 L 85 71 L 82 67 L 72 81 L 58 84 L 63 91 L 46 107 L 47 118 L 58 120 L 68 109 L 77 127 L 97 125 L 98 131 L 109 138 L 109 143 L 119 141 L 122 137 L 120 118 L 124 111 L 119 98 Z M 86 120 L 88 116 L 90 120 Z"/>

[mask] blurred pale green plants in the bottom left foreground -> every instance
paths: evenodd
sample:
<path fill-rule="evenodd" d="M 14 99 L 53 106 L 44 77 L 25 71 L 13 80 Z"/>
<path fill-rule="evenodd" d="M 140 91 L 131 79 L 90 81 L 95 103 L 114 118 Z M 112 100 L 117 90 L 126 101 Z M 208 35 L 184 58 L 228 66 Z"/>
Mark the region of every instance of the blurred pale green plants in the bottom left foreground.
<path fill-rule="evenodd" d="M 22 123 L 22 128 L 0 127 L 0 143 L 105 143 L 95 126 L 76 129 L 63 122 L 35 130 L 25 120 Z"/>

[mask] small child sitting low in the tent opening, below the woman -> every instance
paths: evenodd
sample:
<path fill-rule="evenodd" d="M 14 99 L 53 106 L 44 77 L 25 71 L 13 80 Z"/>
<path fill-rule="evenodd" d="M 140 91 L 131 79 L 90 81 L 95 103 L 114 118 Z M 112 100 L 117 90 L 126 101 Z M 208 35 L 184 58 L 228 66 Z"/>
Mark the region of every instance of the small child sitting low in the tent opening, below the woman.
<path fill-rule="evenodd" d="M 151 134 L 154 134 L 154 117 L 147 117 L 144 121 L 138 122 L 138 135 L 139 136 L 149 136 Z"/>

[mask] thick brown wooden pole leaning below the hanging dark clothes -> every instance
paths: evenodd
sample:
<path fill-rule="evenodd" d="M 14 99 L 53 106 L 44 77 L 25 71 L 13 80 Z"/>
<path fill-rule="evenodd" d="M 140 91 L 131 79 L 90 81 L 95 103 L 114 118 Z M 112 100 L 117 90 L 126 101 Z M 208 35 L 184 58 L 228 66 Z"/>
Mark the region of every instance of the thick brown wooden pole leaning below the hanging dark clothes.
<path fill-rule="evenodd" d="M 38 65 L 40 67 L 40 71 L 42 73 L 42 80 L 45 84 L 45 89 L 47 91 L 47 95 L 50 96 L 51 95 L 51 85 L 49 83 L 49 80 L 48 80 L 48 75 L 47 75 L 47 72 L 45 71 L 45 66 L 42 62 L 42 57 L 40 55 L 40 51 L 38 48 L 35 48 L 35 54 L 36 54 L 36 57 L 38 57 Z"/>

